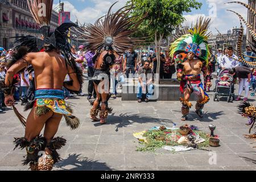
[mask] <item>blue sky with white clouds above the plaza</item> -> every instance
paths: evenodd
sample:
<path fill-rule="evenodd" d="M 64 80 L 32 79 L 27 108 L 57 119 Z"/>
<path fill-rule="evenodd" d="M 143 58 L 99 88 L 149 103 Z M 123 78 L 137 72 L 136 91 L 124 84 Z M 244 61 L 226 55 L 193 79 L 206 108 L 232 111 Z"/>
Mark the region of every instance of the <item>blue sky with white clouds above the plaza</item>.
<path fill-rule="evenodd" d="M 76 17 L 79 22 L 83 24 L 94 23 L 94 21 L 100 16 L 104 15 L 108 11 L 109 7 L 117 0 L 65 0 L 64 10 L 71 11 L 71 20 L 75 21 Z M 184 13 L 184 17 L 187 20 L 187 24 L 195 22 L 200 15 L 210 16 L 212 18 L 212 25 L 210 31 L 216 34 L 217 28 L 221 33 L 226 33 L 227 30 L 232 27 L 240 26 L 237 15 L 226 11 L 226 9 L 234 10 L 240 13 L 245 19 L 247 16 L 247 9 L 242 5 L 235 3 L 225 5 L 224 2 L 230 2 L 231 0 L 198 0 L 203 3 L 200 10 L 192 10 L 191 13 Z M 247 0 L 240 0 L 247 3 Z M 59 0 L 54 1 L 54 7 L 57 6 Z M 114 10 L 125 5 L 126 0 L 119 0 L 114 6 Z M 184 23 L 185 24 L 185 23 Z"/>

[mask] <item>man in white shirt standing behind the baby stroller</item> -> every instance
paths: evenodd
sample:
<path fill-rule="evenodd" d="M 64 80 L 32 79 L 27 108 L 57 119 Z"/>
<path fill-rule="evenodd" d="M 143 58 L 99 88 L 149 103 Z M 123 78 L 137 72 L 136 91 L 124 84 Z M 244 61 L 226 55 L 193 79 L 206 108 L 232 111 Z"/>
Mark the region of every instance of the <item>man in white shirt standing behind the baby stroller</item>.
<path fill-rule="evenodd" d="M 238 57 L 234 55 L 233 47 L 228 48 L 228 54 L 224 55 L 220 61 L 220 67 L 221 69 L 232 69 L 235 67 L 238 67 L 240 64 L 238 60 Z"/>

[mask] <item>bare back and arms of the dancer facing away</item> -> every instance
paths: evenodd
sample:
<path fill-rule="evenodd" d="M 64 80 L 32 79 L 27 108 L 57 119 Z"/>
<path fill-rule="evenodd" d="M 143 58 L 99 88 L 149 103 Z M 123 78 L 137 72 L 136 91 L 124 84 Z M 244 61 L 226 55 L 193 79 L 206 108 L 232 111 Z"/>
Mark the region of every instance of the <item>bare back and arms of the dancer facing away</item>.
<path fill-rule="evenodd" d="M 5 84 L 9 86 L 13 77 L 28 64 L 34 67 L 36 89 L 62 89 L 65 76 L 68 74 L 73 85 L 65 85 L 66 88 L 78 91 L 80 83 L 73 68 L 66 67 L 65 59 L 55 51 L 27 53 L 23 59 L 16 61 L 7 71 Z M 5 98 L 5 104 L 11 106 L 14 103 L 13 96 Z"/>

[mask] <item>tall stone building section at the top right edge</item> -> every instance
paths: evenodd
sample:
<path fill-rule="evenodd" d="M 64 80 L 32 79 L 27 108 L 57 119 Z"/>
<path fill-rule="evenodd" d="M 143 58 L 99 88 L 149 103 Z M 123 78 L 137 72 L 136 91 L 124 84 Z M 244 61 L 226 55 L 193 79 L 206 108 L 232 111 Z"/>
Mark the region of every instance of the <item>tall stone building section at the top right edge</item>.
<path fill-rule="evenodd" d="M 255 4 L 256 4 L 255 0 L 249 0 L 248 1 L 248 5 L 256 11 L 256 5 Z M 253 27 L 253 30 L 255 32 L 256 31 L 256 18 L 254 17 L 253 13 L 251 13 L 250 10 L 248 10 L 248 13 L 247 13 L 247 23 L 249 23 Z M 248 29 L 247 29 L 246 38 L 247 38 L 247 40 L 246 40 L 247 44 L 253 43 L 253 37 L 251 36 Z"/>

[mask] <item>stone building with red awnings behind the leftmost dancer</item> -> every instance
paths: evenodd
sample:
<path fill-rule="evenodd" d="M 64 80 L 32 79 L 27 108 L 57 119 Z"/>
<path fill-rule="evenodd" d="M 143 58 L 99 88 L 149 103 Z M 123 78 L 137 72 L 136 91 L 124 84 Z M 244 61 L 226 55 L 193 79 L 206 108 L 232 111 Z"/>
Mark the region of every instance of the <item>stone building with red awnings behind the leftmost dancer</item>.
<path fill-rule="evenodd" d="M 16 36 L 38 36 L 39 24 L 37 24 L 28 9 L 26 0 L 0 0 L 0 47 L 9 49 L 13 47 Z M 52 11 L 50 27 L 55 30 L 59 16 Z"/>

